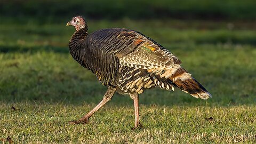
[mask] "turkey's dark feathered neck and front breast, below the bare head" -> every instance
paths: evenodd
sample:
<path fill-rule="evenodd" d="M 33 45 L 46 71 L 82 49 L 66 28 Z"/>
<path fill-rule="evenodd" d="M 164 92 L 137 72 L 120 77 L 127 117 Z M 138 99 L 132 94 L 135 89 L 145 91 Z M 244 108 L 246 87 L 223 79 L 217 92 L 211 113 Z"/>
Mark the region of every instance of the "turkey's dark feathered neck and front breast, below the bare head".
<path fill-rule="evenodd" d="M 91 69 L 86 63 L 86 58 L 88 58 L 86 50 L 87 35 L 87 26 L 85 28 L 77 30 L 69 40 L 69 52 L 72 55 L 72 57 L 78 63 L 80 63 L 80 65 L 87 69 Z"/>

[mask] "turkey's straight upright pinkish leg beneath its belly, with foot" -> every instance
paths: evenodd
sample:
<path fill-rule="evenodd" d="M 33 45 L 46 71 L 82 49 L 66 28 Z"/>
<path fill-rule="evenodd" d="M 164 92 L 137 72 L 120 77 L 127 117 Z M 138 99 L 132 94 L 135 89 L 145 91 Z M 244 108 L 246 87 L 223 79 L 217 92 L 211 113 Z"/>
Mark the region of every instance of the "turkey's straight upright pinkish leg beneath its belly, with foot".
<path fill-rule="evenodd" d="M 134 102 L 134 115 L 135 115 L 135 127 L 133 130 L 141 127 L 140 119 L 139 119 L 139 95 L 138 93 L 130 94 L 130 97 L 133 99 Z"/>

